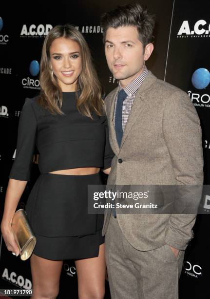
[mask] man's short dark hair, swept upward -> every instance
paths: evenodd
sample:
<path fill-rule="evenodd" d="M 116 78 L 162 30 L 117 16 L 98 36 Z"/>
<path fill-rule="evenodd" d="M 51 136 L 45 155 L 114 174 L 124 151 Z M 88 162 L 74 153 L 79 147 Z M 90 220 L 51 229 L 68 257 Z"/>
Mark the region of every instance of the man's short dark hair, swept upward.
<path fill-rule="evenodd" d="M 148 43 L 153 42 L 154 23 L 154 15 L 148 11 L 147 7 L 143 7 L 139 3 L 117 6 L 115 10 L 106 12 L 101 16 L 103 42 L 105 43 L 108 28 L 135 26 L 139 40 L 145 47 Z"/>

